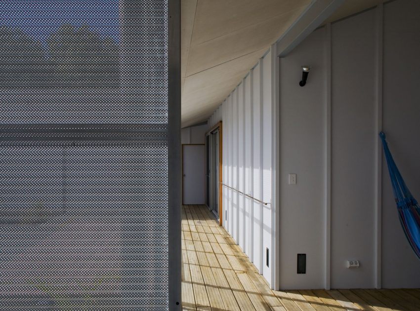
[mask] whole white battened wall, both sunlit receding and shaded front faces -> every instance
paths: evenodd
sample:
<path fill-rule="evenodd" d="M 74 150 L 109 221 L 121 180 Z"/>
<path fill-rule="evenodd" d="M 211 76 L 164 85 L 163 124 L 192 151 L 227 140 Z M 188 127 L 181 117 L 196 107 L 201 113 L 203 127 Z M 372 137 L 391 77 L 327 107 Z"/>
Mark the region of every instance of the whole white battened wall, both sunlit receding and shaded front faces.
<path fill-rule="evenodd" d="M 395 0 L 316 30 L 280 59 L 279 93 L 269 52 L 210 117 L 208 128 L 223 121 L 230 187 L 276 199 L 272 157 L 280 151 L 279 286 L 270 276 L 274 210 L 223 188 L 223 225 L 272 287 L 420 287 L 420 262 L 399 224 L 378 140 L 383 129 L 420 197 L 418 12 L 420 1 Z M 312 66 L 304 87 L 301 65 Z M 306 274 L 296 273 L 298 253 L 307 254 Z M 345 268 L 347 259 L 360 268 Z"/>

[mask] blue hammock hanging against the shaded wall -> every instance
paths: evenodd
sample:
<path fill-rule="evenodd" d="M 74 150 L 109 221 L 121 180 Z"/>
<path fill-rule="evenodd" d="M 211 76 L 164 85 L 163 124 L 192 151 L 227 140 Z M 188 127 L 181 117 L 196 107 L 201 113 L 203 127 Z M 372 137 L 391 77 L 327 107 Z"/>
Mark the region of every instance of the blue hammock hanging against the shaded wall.
<path fill-rule="evenodd" d="M 385 140 L 385 133 L 380 132 L 383 152 L 385 153 L 386 163 L 388 164 L 389 177 L 392 183 L 395 201 L 397 203 L 398 216 L 404 233 L 410 242 L 411 247 L 420 259 L 420 207 L 419 203 L 408 190 L 398 168 L 389 151 Z"/>

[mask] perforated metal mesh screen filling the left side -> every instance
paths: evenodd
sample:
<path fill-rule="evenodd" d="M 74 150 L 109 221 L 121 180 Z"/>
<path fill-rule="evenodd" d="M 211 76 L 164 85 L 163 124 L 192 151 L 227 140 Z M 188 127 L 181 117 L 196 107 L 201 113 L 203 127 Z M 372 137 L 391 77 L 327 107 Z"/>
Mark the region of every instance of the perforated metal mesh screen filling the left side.
<path fill-rule="evenodd" d="M 168 309 L 167 0 L 0 0 L 0 310 Z"/>

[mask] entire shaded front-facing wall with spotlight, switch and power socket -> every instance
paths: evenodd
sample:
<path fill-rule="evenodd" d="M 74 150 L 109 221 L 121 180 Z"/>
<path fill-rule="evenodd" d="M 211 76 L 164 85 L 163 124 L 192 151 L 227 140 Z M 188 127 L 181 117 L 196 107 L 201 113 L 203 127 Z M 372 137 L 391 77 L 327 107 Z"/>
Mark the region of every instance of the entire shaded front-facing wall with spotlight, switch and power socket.
<path fill-rule="evenodd" d="M 419 11 L 415 0 L 385 3 L 383 18 L 379 6 L 327 25 L 280 60 L 283 289 L 420 286 L 378 149 L 383 128 L 420 197 Z M 304 64 L 312 69 L 299 87 Z M 307 254 L 306 274 L 296 273 L 297 253 Z M 345 268 L 347 259 L 361 267 Z"/>

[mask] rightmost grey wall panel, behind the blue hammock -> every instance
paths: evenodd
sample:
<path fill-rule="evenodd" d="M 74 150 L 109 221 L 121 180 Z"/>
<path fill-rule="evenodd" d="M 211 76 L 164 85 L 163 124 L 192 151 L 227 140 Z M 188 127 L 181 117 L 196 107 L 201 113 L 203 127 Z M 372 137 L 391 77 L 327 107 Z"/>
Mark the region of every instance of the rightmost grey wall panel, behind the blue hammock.
<path fill-rule="evenodd" d="M 420 199 L 420 2 L 383 11 L 383 130 L 413 195 Z M 382 286 L 419 287 L 420 262 L 400 226 L 385 161 L 382 165 Z"/>

